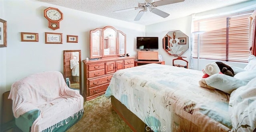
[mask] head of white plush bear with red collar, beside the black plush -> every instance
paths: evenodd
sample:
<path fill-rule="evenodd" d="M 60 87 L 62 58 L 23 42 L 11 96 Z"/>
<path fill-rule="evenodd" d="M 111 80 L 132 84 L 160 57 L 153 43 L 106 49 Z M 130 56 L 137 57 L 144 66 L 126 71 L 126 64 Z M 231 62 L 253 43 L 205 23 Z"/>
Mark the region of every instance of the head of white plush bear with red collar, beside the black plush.
<path fill-rule="evenodd" d="M 202 78 L 206 78 L 206 77 L 210 77 L 211 75 L 221 73 L 221 72 L 216 63 L 208 63 L 205 66 L 205 68 L 203 69 L 203 73 L 204 73 L 204 75 Z"/>

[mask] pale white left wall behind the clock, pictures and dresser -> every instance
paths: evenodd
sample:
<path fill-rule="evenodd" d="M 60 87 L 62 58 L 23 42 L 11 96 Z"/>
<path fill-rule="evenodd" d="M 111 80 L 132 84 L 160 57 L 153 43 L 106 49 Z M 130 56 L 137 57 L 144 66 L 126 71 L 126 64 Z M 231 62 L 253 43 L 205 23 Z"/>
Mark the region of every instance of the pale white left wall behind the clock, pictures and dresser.
<path fill-rule="evenodd" d="M 60 29 L 48 28 L 44 9 L 58 8 L 64 19 Z M 7 47 L 0 48 L 0 99 L 12 83 L 43 71 L 63 73 L 63 50 L 81 50 L 81 59 L 89 57 L 89 32 L 113 26 L 127 35 L 127 53 L 135 56 L 136 36 L 143 36 L 145 26 L 80 12 L 34 0 L 0 0 L 0 18 L 7 21 Z M 39 34 L 39 42 L 22 42 L 20 32 Z M 63 44 L 45 44 L 45 32 L 63 33 Z M 66 43 L 66 35 L 78 35 L 78 43 Z M 83 80 L 82 64 L 82 80 Z M 83 87 L 83 81 L 82 81 Z M 2 108 L 2 101 L 1 101 Z M 1 112 L 1 111 L 0 111 Z"/>

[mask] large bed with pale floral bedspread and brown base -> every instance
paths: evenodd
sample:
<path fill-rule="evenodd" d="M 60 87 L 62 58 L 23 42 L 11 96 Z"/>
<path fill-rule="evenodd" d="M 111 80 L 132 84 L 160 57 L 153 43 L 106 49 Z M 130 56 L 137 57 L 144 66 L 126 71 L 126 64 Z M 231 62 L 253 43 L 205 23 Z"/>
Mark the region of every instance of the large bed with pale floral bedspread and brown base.
<path fill-rule="evenodd" d="M 202 76 L 202 71 L 170 65 L 141 65 L 114 73 L 105 96 L 111 97 L 114 110 L 138 132 L 239 131 L 246 128 L 243 121 L 247 120 L 247 128 L 254 130 L 256 112 L 252 111 L 256 107 L 256 88 L 250 89 L 254 96 L 248 98 L 254 108 L 249 108 L 251 112 L 242 111 L 252 115 L 241 121 L 236 118 L 241 114 L 238 110 L 241 106 L 234 103 L 241 91 L 235 93 L 230 102 L 230 94 L 200 87 L 198 81 Z"/>

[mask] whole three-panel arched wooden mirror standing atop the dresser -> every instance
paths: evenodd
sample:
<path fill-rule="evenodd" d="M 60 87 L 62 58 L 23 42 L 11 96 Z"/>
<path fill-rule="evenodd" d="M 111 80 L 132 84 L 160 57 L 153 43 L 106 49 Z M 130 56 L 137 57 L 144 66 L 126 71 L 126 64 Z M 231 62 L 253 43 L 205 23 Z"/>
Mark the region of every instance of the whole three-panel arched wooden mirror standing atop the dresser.
<path fill-rule="evenodd" d="M 90 59 L 124 56 L 126 54 L 126 34 L 112 26 L 90 31 Z"/>

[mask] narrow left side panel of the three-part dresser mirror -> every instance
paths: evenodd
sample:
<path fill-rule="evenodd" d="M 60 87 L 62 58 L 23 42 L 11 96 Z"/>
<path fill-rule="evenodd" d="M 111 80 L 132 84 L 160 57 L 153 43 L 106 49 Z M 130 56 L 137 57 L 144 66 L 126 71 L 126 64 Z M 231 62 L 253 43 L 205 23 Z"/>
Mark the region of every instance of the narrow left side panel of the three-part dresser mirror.
<path fill-rule="evenodd" d="M 102 29 L 98 28 L 90 31 L 90 58 L 101 58 L 101 41 L 102 41 Z"/>

